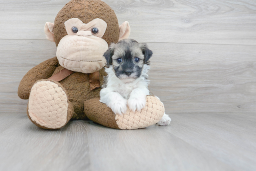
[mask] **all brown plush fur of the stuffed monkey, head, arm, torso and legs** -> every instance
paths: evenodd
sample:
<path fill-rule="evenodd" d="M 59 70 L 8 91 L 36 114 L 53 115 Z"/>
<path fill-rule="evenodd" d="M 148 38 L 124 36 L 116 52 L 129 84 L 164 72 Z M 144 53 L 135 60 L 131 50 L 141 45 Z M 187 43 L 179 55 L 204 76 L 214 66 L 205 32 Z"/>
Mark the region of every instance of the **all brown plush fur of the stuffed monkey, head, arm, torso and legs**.
<path fill-rule="evenodd" d="M 96 18 L 104 20 L 108 26 L 102 37 L 110 45 L 117 43 L 119 39 L 118 20 L 114 11 L 101 0 L 71 0 L 61 9 L 55 19 L 54 39 L 56 46 L 60 40 L 67 35 L 64 22 L 71 18 L 79 18 L 84 23 L 88 23 Z M 32 68 L 20 81 L 18 95 L 21 99 L 28 99 L 34 83 L 41 79 L 48 79 L 52 75 L 63 69 L 56 57 L 48 59 Z M 100 71 L 100 83 L 103 84 L 103 76 L 106 76 L 104 68 Z M 67 122 L 72 119 L 88 119 L 111 128 L 120 129 L 115 120 L 115 114 L 107 105 L 100 103 L 101 88 L 90 90 L 88 74 L 74 72 L 66 79 L 58 83 L 66 92 L 68 98 Z M 28 118 L 30 118 L 28 114 Z M 31 118 L 30 118 L 31 119 Z M 31 121 L 44 129 L 48 129 Z M 149 125 L 145 125 L 149 126 Z"/>

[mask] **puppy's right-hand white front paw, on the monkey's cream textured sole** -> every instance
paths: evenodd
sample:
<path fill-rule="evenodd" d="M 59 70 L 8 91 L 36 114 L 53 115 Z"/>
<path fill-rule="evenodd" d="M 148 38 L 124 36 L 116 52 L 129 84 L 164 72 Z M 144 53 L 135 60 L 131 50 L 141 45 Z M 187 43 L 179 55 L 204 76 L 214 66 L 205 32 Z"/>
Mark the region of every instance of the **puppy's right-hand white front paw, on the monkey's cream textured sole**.
<path fill-rule="evenodd" d="M 135 112 L 141 111 L 146 105 L 146 97 L 149 95 L 149 91 L 146 88 L 136 88 L 134 89 L 131 94 L 130 98 L 128 99 L 128 106 L 131 111 Z"/>

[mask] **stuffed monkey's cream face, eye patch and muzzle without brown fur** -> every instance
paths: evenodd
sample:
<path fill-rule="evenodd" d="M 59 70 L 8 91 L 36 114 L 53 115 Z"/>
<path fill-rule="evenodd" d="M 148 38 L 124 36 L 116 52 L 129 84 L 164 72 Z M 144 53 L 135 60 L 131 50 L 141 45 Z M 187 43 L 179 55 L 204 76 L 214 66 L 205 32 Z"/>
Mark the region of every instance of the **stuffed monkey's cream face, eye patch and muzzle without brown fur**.
<path fill-rule="evenodd" d="M 101 39 L 107 23 L 94 19 L 84 24 L 78 18 L 65 22 L 67 35 L 57 47 L 57 58 L 64 68 L 75 72 L 92 73 L 105 66 L 103 54 L 108 50 L 108 43 Z"/>

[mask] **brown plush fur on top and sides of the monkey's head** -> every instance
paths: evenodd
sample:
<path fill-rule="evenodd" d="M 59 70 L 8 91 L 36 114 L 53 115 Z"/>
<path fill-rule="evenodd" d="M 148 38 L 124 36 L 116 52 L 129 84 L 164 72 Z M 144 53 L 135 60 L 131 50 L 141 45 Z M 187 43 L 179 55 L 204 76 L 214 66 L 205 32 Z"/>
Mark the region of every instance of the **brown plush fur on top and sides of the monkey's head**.
<path fill-rule="evenodd" d="M 104 20 L 108 26 L 102 39 L 106 40 L 108 45 L 118 42 L 119 25 L 113 9 L 101 0 L 71 0 L 61 9 L 54 21 L 56 46 L 67 35 L 64 22 L 71 18 L 78 18 L 85 24 L 97 18 Z"/>

